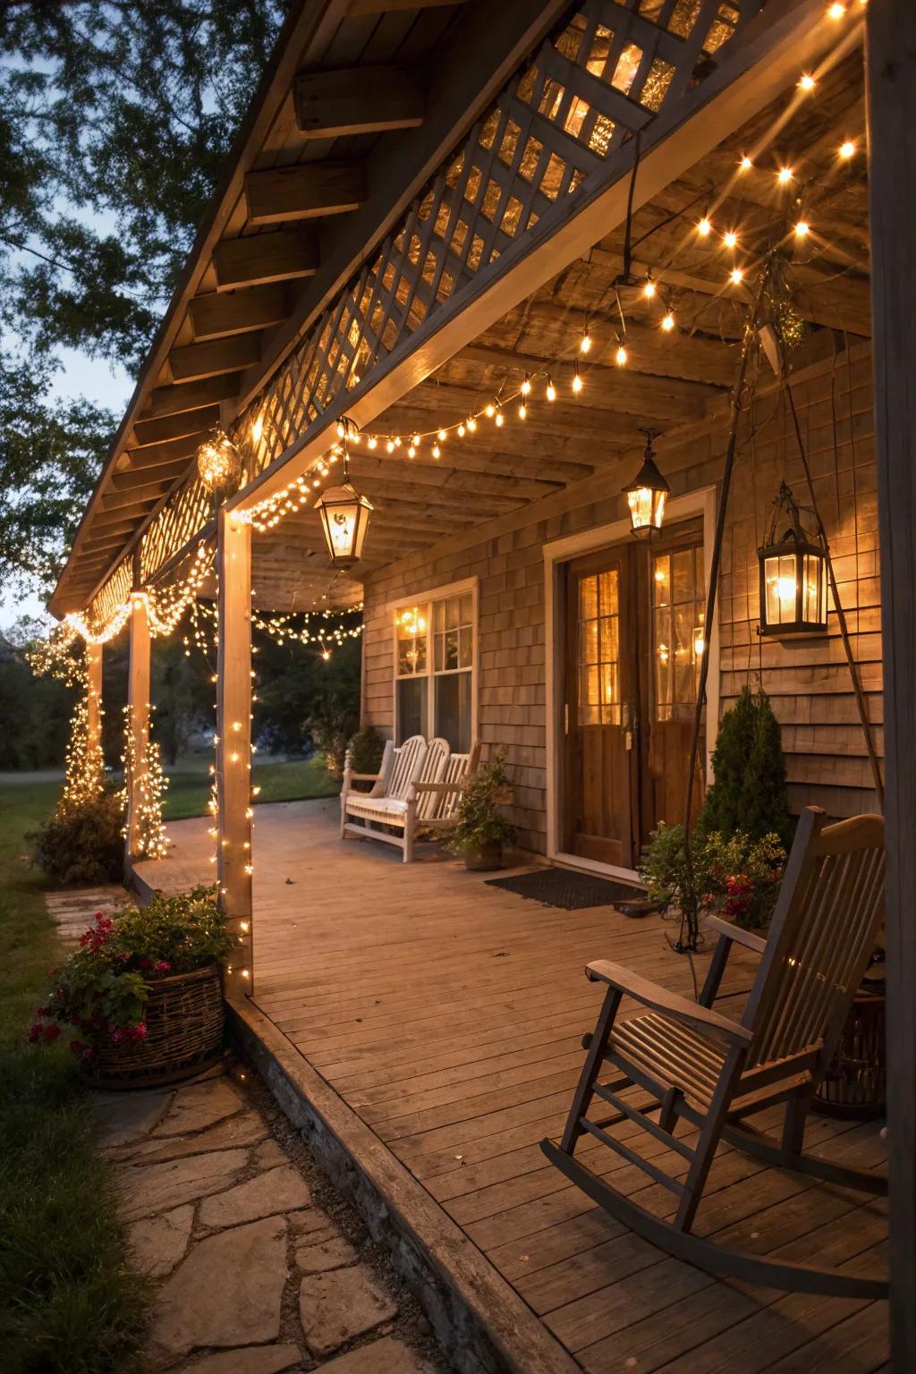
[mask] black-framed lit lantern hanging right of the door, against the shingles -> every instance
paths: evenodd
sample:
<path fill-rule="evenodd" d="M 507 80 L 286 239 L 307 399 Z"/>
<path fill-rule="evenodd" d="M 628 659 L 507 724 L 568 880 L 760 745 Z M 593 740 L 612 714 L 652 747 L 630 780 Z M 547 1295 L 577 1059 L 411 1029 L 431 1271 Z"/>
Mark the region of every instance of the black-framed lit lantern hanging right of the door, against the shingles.
<path fill-rule="evenodd" d="M 780 518 L 787 529 L 777 534 Z M 805 532 L 791 491 L 780 484 L 761 565 L 761 635 L 823 635 L 827 629 L 827 547 Z"/>

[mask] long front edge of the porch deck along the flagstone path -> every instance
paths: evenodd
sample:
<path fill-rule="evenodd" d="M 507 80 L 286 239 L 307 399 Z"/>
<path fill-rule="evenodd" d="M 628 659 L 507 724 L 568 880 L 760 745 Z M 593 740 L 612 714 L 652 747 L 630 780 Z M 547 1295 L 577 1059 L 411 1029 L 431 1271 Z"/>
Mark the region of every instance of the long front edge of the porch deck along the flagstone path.
<path fill-rule="evenodd" d="M 251 1002 L 227 1004 L 243 1054 L 335 1187 L 391 1253 L 460 1374 L 581 1374 L 515 1289 Z"/>

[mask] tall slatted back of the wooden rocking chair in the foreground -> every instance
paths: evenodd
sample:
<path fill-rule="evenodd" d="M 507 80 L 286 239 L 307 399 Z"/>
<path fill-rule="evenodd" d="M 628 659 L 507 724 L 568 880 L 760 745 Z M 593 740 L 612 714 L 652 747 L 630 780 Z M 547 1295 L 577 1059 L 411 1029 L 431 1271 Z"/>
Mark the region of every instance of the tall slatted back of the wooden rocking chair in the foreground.
<path fill-rule="evenodd" d="M 743 1018 L 747 1068 L 836 1044 L 883 916 L 884 823 L 856 816 L 823 829 L 806 808 L 786 868 L 766 952 Z"/>

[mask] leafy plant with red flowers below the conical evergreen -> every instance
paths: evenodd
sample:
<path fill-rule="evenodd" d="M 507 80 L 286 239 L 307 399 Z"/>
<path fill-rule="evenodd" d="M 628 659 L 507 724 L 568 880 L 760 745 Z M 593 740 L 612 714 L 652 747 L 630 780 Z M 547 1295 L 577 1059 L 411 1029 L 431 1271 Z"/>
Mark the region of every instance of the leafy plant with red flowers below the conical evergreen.
<path fill-rule="evenodd" d="M 689 860 L 684 827 L 661 824 L 643 851 L 640 878 L 652 901 L 681 911 L 721 911 L 739 926 L 765 926 L 786 866 L 779 835 L 694 831 Z"/>

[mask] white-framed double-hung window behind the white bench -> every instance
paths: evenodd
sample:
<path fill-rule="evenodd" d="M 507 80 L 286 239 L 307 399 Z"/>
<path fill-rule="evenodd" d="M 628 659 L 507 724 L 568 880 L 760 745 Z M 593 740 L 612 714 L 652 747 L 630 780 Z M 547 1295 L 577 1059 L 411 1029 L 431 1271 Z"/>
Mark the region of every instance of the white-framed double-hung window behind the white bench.
<path fill-rule="evenodd" d="M 474 735 L 474 587 L 444 588 L 394 611 L 398 743 L 441 735 L 467 753 Z"/>

